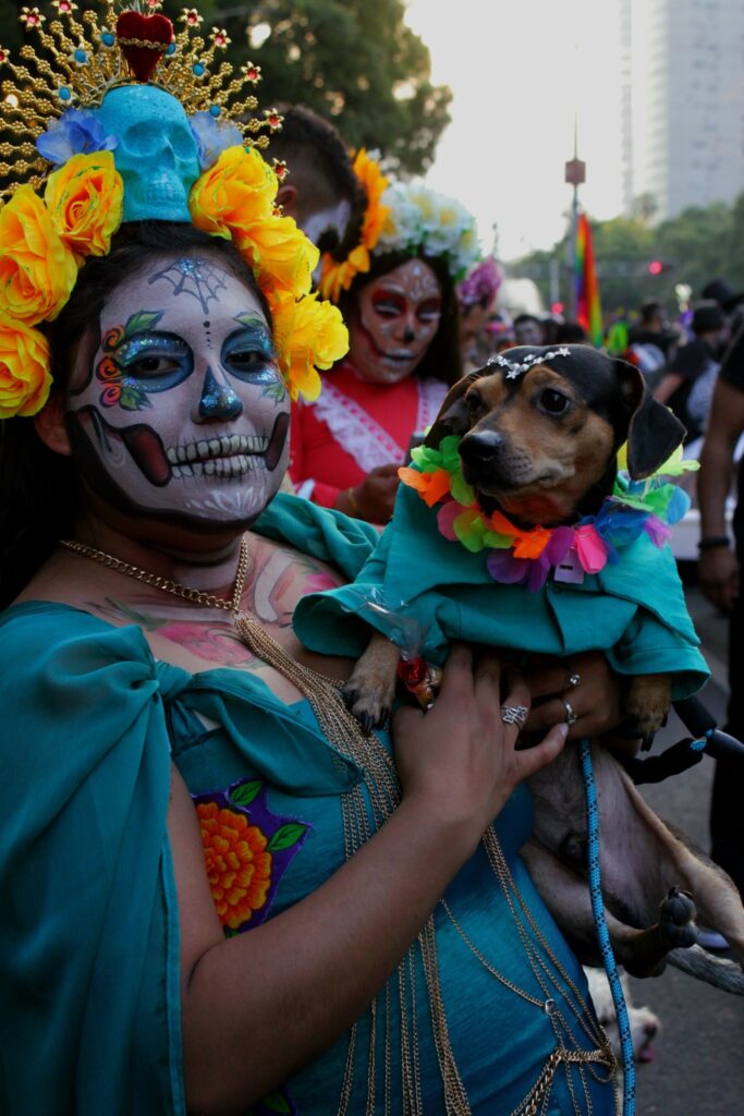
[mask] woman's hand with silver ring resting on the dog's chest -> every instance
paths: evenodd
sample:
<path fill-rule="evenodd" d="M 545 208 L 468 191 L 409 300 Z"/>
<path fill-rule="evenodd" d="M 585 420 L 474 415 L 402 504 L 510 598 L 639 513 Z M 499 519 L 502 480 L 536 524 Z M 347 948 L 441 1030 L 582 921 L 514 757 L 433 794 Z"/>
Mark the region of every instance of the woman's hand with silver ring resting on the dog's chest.
<path fill-rule="evenodd" d="M 500 703 L 501 665 L 483 653 L 455 644 L 434 708 L 426 714 L 406 706 L 394 716 L 395 758 L 404 801 L 425 805 L 448 819 L 472 846 L 500 812 L 514 788 L 550 763 L 566 740 L 566 725 L 553 724 L 534 748 L 518 751 L 519 724 L 504 724 L 506 705 L 530 705 L 530 692 L 516 672 L 508 675 Z"/>

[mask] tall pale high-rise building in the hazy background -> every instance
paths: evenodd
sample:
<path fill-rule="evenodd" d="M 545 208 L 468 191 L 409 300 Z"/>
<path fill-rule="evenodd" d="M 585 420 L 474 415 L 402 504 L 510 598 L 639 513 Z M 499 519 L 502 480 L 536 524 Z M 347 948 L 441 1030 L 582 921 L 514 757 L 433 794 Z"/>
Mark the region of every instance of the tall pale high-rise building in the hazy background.
<path fill-rule="evenodd" d="M 620 0 L 624 205 L 656 217 L 744 191 L 744 2 Z"/>

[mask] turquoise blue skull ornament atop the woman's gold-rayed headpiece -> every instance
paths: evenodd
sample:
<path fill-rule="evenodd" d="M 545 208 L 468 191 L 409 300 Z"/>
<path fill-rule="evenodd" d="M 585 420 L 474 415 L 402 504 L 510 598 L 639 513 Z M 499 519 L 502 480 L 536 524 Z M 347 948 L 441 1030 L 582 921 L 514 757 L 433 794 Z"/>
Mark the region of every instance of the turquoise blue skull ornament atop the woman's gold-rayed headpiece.
<path fill-rule="evenodd" d="M 109 89 L 95 114 L 118 141 L 123 220 L 191 222 L 189 193 L 201 169 L 181 102 L 157 86 L 122 85 Z"/>

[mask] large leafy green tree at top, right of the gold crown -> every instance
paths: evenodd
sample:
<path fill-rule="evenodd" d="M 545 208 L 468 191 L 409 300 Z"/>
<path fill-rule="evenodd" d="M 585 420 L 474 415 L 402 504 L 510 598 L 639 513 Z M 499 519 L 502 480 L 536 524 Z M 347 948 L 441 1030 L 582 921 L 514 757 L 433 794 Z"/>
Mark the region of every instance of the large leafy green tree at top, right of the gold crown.
<path fill-rule="evenodd" d="M 428 49 L 404 16 L 402 0 L 216 9 L 233 39 L 230 60 L 261 66 L 262 106 L 307 105 L 332 119 L 350 146 L 378 147 L 392 170 L 416 174 L 434 158 L 452 92 L 432 85 Z"/>

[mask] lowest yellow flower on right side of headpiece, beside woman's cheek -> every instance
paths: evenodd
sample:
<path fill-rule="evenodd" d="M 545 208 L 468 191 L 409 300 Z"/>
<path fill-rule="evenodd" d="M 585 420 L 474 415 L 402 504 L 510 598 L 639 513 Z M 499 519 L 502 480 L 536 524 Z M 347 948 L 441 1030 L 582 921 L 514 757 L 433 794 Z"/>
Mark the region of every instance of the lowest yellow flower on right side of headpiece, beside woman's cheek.
<path fill-rule="evenodd" d="M 290 396 L 317 400 L 321 382 L 316 368 L 330 368 L 348 352 L 349 335 L 338 307 L 309 295 L 296 301 L 281 291 L 269 298 L 274 344 Z"/>

